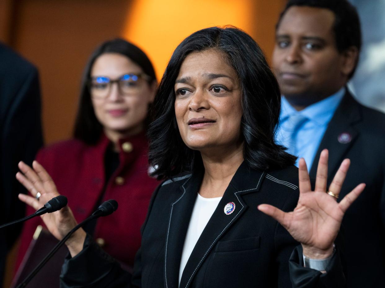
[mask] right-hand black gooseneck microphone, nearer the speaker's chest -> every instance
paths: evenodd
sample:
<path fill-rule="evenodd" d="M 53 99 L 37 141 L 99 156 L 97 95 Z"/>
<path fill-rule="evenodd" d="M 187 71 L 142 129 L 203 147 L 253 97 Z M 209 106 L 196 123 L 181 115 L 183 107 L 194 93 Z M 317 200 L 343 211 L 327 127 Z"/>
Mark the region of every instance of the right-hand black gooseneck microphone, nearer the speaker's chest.
<path fill-rule="evenodd" d="M 57 243 L 54 248 L 52 248 L 52 250 L 47 254 L 47 256 L 44 257 L 44 259 L 36 266 L 35 269 L 33 269 L 33 271 L 27 276 L 27 278 L 25 278 L 24 281 L 22 283 L 20 283 L 20 285 L 17 286 L 17 288 L 22 288 L 22 287 L 27 286 L 29 281 L 32 280 L 32 278 L 39 272 L 39 270 L 45 265 L 45 263 L 47 263 L 47 261 L 50 260 L 50 258 L 52 256 L 54 256 L 54 254 L 57 252 L 57 250 L 59 250 L 59 248 L 63 246 L 63 244 L 68 240 L 68 238 L 71 237 L 71 235 L 77 229 L 82 227 L 84 224 L 90 222 L 91 220 L 94 220 L 95 218 L 99 218 L 99 217 L 103 217 L 103 216 L 107 216 L 107 215 L 112 214 L 113 212 L 115 212 L 116 209 L 118 209 L 118 202 L 116 202 L 116 200 L 110 199 L 110 200 L 103 202 L 98 207 L 98 209 L 96 209 L 95 212 L 92 213 L 92 215 L 90 217 L 86 218 L 84 221 L 80 222 L 78 225 L 76 225 L 74 228 L 72 228 L 72 230 L 70 232 L 68 232 L 67 235 L 65 235 L 64 238 L 62 240 L 60 240 L 59 243 Z"/>

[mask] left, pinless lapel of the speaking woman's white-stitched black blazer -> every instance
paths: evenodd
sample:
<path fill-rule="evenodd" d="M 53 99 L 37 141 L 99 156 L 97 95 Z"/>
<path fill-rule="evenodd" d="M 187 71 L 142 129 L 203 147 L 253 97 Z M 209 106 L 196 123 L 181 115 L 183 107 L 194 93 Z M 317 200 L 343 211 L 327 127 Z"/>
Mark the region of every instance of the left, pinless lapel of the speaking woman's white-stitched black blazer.
<path fill-rule="evenodd" d="M 202 179 L 203 173 L 197 173 L 183 180 L 184 182 L 180 187 L 181 196 L 171 204 L 164 253 L 164 287 L 166 288 L 178 287 L 179 265 L 184 238 L 186 238 L 192 209 Z"/>

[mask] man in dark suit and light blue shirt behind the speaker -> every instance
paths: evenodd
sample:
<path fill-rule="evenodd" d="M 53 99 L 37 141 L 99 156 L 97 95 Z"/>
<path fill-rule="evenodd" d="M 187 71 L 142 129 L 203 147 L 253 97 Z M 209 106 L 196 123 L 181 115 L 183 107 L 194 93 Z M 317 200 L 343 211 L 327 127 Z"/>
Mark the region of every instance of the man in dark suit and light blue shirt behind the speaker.
<path fill-rule="evenodd" d="M 283 95 L 276 137 L 305 158 L 313 178 L 325 148 L 330 181 L 341 161 L 351 160 L 340 199 L 367 186 L 342 223 L 347 286 L 385 287 L 385 115 L 359 104 L 346 87 L 360 48 L 360 21 L 347 0 L 288 1 L 272 61 Z"/>

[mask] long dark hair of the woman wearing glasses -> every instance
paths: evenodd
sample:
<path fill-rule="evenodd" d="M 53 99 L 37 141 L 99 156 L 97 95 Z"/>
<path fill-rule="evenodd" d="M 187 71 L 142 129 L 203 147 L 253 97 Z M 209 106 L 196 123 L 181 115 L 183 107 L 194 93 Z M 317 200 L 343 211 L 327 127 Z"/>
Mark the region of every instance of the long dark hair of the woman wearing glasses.
<path fill-rule="evenodd" d="M 74 129 L 74 137 L 90 145 L 97 143 L 100 135 L 102 134 L 103 126 L 95 116 L 87 84 L 96 58 L 104 53 L 119 53 L 130 58 L 131 61 L 139 65 L 143 72 L 149 76 L 149 84 L 156 81 L 155 71 L 152 67 L 151 61 L 147 55 L 134 44 L 117 38 L 105 41 L 98 46 L 90 56 L 84 69 L 80 88 L 79 108 L 77 111 Z"/>

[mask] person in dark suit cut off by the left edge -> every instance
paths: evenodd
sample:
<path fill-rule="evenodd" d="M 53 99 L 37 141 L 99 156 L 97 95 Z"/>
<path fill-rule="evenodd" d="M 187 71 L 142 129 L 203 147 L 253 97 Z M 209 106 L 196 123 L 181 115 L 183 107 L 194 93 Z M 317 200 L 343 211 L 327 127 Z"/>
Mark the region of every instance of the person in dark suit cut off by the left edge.
<path fill-rule="evenodd" d="M 0 223 L 24 217 L 18 200 L 25 189 L 15 174 L 19 161 L 31 164 L 43 144 L 40 119 L 40 88 L 36 68 L 0 43 Z M 5 259 L 22 224 L 0 231 L 0 286 Z"/>

